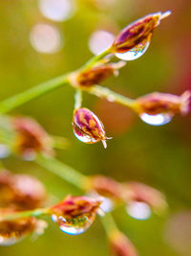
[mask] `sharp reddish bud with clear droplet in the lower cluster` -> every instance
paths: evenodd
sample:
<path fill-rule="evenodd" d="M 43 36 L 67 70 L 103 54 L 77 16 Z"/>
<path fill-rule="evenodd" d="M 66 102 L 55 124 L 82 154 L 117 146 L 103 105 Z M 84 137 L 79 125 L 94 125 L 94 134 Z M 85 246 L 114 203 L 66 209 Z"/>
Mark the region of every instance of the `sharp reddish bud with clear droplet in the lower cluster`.
<path fill-rule="evenodd" d="M 67 197 L 50 209 L 52 219 L 70 235 L 85 232 L 95 221 L 100 201 L 88 197 Z"/>

